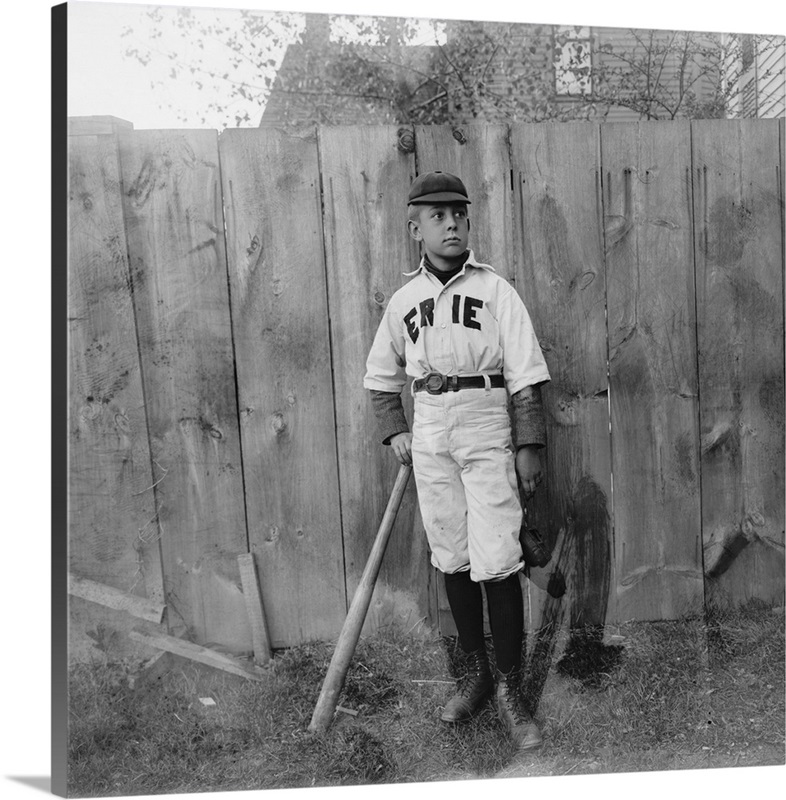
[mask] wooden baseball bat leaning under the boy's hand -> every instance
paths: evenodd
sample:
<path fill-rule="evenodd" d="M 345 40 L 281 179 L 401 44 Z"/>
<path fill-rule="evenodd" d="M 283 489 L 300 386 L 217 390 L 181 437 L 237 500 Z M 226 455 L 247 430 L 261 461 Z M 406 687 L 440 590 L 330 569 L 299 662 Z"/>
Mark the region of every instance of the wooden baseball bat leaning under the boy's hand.
<path fill-rule="evenodd" d="M 366 620 L 366 613 L 371 604 L 371 595 L 374 592 L 374 585 L 379 575 L 382 556 L 385 555 L 385 548 L 390 538 L 390 532 L 393 530 L 393 523 L 396 520 L 396 514 L 401 505 L 401 500 L 404 497 L 404 490 L 407 488 L 407 481 L 409 480 L 411 472 L 412 467 L 410 466 L 402 464 L 399 468 L 396 482 L 393 485 L 393 491 L 390 493 L 387 508 L 385 508 L 382 522 L 377 531 L 377 538 L 374 539 L 374 544 L 371 548 L 368 561 L 366 562 L 366 567 L 363 570 L 360 583 L 355 590 L 355 595 L 349 606 L 347 618 L 344 620 L 344 625 L 341 628 L 341 633 L 336 642 L 333 658 L 330 659 L 330 666 L 325 675 L 325 680 L 322 682 L 319 699 L 314 708 L 311 723 L 308 726 L 310 731 L 326 731 L 333 719 L 333 713 L 338 704 L 338 697 L 341 694 L 344 680 L 347 677 L 349 662 L 352 660 L 352 656 L 355 653 L 355 648 L 360 638 L 360 631 L 363 628 L 363 623 Z"/>

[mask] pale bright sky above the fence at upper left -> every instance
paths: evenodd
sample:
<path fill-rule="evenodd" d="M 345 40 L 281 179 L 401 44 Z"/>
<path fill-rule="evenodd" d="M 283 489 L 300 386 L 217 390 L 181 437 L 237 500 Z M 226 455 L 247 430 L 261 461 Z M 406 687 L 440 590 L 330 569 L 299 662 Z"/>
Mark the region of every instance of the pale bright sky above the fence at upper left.
<path fill-rule="evenodd" d="M 162 35 L 153 38 L 156 30 L 148 14 L 157 9 L 165 22 L 157 26 Z M 303 30 L 302 14 L 286 12 L 257 13 L 269 20 L 273 30 L 280 34 L 281 43 L 274 44 L 272 37 L 265 49 L 258 47 L 254 53 L 258 61 L 270 60 L 265 72 L 250 62 L 240 68 L 232 64 L 232 52 L 221 46 L 200 50 L 193 38 L 184 37 L 175 24 L 177 6 L 153 6 L 139 3 L 73 2 L 69 4 L 69 92 L 68 115 L 110 115 L 134 123 L 142 128 L 207 127 L 223 129 L 238 125 L 237 117 L 245 117 L 241 127 L 257 127 L 264 104 L 229 99 L 228 85 L 213 81 L 203 72 L 192 75 L 189 70 L 172 72 L 172 64 L 164 55 L 177 52 L 182 61 L 201 63 L 205 70 L 217 74 L 228 73 L 234 80 L 245 81 L 259 87 L 264 97 L 265 76 L 272 79 L 286 51 L 287 44 L 296 41 Z M 215 24 L 242 28 L 239 11 L 231 8 L 192 8 L 190 11 L 200 25 Z M 360 41 L 352 35 L 352 18 L 334 20 L 336 35 Z M 431 42 L 433 26 L 427 21 L 412 43 Z M 431 30 L 429 30 L 431 29 Z M 131 32 L 129 32 L 131 31 Z M 444 33 L 444 31 L 443 31 Z M 442 37 L 444 41 L 444 36 Z M 259 39 L 257 39 L 259 41 Z M 373 39 L 366 37 L 366 41 Z M 261 42 L 260 42 L 261 44 Z M 154 48 L 158 57 L 147 65 L 130 58 L 127 51 L 135 48 L 147 51 Z M 199 80 L 202 88 L 194 85 Z M 123 91 L 117 91 L 122 86 Z M 227 106 L 223 112 L 214 111 L 209 101 Z"/>

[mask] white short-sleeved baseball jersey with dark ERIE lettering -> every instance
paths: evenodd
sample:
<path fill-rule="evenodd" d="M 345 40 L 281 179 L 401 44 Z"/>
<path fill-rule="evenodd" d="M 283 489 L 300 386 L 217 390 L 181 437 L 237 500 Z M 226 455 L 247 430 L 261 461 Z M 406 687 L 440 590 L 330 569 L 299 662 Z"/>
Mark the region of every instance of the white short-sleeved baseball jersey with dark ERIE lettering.
<path fill-rule="evenodd" d="M 446 285 L 421 260 L 390 299 L 366 362 L 366 389 L 400 392 L 406 376 L 501 372 L 508 393 L 548 381 L 527 309 L 515 289 L 470 250 Z"/>

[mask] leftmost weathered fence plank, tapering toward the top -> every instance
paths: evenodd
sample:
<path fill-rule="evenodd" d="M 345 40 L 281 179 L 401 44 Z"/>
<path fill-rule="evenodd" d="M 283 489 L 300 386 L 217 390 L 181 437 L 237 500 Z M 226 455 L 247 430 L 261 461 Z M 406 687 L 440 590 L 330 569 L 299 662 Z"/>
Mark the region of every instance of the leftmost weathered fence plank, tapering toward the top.
<path fill-rule="evenodd" d="M 69 179 L 70 567 L 163 602 L 114 137 L 71 137 Z"/>

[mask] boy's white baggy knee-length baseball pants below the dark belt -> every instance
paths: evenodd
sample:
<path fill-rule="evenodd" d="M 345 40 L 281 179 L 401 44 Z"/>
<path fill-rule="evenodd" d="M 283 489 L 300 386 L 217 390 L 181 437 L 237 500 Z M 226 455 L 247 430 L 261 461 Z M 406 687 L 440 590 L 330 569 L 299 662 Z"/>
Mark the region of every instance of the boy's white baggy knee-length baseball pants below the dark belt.
<path fill-rule="evenodd" d="M 431 563 L 499 580 L 523 566 L 504 388 L 415 394 L 412 465 Z"/>

